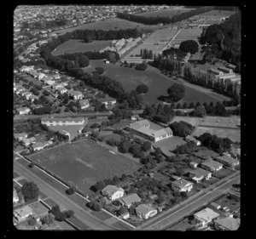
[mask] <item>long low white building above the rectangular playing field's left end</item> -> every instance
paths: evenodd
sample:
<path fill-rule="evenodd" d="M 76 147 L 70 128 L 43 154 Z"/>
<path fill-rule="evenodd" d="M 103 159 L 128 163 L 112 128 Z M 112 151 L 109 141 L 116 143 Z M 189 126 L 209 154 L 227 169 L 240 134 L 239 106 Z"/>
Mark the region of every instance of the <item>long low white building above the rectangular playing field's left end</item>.
<path fill-rule="evenodd" d="M 46 124 L 47 126 L 55 126 L 55 125 L 83 125 L 84 118 L 76 117 L 76 118 L 54 118 L 54 117 L 43 117 L 41 118 L 41 122 Z"/>

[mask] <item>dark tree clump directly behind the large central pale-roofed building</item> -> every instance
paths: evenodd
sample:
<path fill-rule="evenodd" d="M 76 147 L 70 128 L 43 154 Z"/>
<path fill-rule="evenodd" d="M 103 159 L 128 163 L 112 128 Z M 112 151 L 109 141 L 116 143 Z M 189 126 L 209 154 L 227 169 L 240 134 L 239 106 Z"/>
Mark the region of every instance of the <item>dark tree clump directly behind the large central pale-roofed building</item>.
<path fill-rule="evenodd" d="M 175 111 L 169 105 L 147 105 L 143 111 L 143 118 L 148 119 L 149 121 L 156 122 L 170 122 L 172 118 L 175 117 Z"/>

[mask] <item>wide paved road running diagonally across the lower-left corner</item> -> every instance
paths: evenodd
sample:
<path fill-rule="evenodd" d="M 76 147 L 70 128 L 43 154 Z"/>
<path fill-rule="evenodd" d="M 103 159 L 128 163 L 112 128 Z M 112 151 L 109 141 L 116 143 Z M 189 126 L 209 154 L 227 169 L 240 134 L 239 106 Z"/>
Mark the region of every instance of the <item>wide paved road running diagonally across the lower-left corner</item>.
<path fill-rule="evenodd" d="M 55 202 L 58 202 L 61 208 L 73 210 L 76 217 L 88 225 L 92 230 L 116 230 L 111 225 L 106 225 L 101 220 L 93 217 L 89 212 L 84 211 L 83 208 L 79 207 L 75 202 L 70 200 L 67 196 L 63 196 L 61 192 L 56 191 L 55 188 L 44 182 L 43 179 L 38 178 L 37 175 L 32 174 L 28 168 L 20 165 L 18 162 L 14 162 L 14 170 L 18 174 L 22 175 L 28 180 L 32 180 L 40 191 L 43 191 L 46 195 L 52 198 Z"/>

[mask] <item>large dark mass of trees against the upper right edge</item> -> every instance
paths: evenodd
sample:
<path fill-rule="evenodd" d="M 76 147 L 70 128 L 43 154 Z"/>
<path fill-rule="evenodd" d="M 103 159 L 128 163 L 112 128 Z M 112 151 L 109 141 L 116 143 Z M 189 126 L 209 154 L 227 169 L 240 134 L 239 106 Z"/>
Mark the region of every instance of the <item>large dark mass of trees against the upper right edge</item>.
<path fill-rule="evenodd" d="M 218 58 L 227 60 L 241 69 L 241 12 L 230 16 L 228 20 L 219 25 L 207 27 L 202 32 L 201 43 L 212 45 L 213 54 L 219 52 Z M 216 49 L 213 50 L 213 49 Z"/>

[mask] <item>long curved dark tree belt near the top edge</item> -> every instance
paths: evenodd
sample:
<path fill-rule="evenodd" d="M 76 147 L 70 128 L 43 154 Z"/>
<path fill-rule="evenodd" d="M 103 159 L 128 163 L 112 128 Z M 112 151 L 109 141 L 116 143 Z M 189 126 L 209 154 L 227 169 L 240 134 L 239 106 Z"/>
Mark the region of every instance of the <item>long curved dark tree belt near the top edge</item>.
<path fill-rule="evenodd" d="M 157 25 L 157 24 L 170 24 L 170 23 L 175 23 L 181 20 L 188 19 L 191 16 L 197 15 L 197 14 L 203 14 L 208 11 L 211 11 L 214 9 L 214 7 L 202 7 L 200 9 L 195 9 L 191 10 L 189 12 L 183 13 L 183 14 L 177 14 L 173 16 L 172 18 L 169 17 L 144 17 L 144 16 L 139 16 L 135 14 L 125 14 L 125 13 L 118 13 L 117 17 L 120 19 L 125 19 L 125 20 L 130 20 L 130 21 L 135 21 L 137 23 L 142 23 L 144 25 Z"/>

